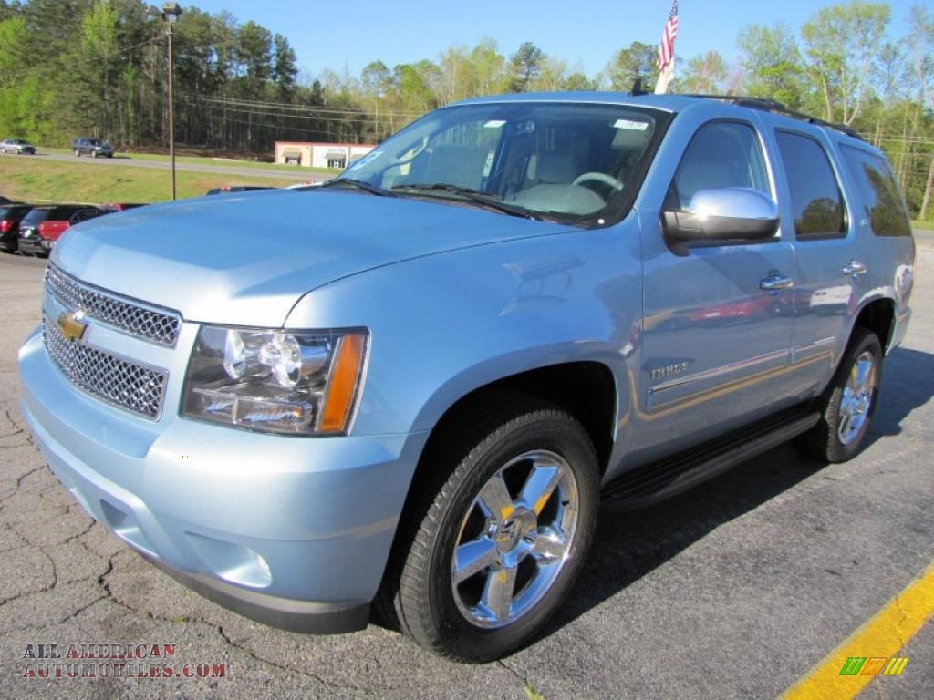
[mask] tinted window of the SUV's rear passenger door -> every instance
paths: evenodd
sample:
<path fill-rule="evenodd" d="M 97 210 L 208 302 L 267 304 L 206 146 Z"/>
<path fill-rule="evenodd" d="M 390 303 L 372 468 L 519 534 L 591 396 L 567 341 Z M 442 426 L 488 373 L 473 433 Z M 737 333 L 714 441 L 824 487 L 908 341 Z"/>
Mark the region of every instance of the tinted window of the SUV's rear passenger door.
<path fill-rule="evenodd" d="M 795 235 L 804 240 L 842 238 L 846 235 L 846 210 L 827 151 L 802 133 L 776 135 L 791 188 Z"/>

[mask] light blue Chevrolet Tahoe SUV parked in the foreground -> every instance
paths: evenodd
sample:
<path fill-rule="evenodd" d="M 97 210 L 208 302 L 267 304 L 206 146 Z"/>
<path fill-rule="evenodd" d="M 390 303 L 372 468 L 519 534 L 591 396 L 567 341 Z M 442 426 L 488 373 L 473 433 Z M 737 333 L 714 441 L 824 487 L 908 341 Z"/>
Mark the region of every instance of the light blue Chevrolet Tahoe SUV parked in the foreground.
<path fill-rule="evenodd" d="M 884 156 L 840 128 L 491 97 L 323 187 L 69 231 L 22 412 L 94 518 L 222 605 L 316 633 L 372 606 L 489 660 L 542 632 L 601 500 L 789 439 L 856 455 L 913 259 Z"/>

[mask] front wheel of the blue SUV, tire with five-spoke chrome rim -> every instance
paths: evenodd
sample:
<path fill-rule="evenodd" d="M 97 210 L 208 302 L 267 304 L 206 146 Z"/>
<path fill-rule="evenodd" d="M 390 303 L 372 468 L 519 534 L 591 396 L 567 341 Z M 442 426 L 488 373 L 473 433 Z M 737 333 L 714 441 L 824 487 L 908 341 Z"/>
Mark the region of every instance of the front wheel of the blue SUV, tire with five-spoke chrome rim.
<path fill-rule="evenodd" d="M 448 477 L 425 489 L 392 581 L 403 633 L 467 662 L 501 658 L 542 632 L 587 556 L 600 504 L 596 451 L 573 416 L 513 395 L 480 408 L 428 455 Z M 546 482 L 550 490 L 533 487 Z M 465 543 L 484 552 L 473 573 L 457 571 Z"/>

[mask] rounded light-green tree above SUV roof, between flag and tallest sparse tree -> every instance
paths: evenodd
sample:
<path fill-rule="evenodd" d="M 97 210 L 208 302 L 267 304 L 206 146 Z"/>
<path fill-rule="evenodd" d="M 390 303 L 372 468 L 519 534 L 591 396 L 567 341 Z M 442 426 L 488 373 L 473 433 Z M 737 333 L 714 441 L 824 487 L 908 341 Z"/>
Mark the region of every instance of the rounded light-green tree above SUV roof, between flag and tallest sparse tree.
<path fill-rule="evenodd" d="M 737 44 L 745 70 L 743 91 L 798 108 L 805 91 L 804 66 L 798 41 L 785 22 L 750 24 Z"/>

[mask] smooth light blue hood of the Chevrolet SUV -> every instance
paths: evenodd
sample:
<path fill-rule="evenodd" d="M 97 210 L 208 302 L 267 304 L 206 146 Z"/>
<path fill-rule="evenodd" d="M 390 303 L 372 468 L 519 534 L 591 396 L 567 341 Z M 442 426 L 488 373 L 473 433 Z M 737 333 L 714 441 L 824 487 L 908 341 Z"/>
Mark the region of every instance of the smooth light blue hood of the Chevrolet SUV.
<path fill-rule="evenodd" d="M 92 219 L 62 237 L 52 261 L 186 320 L 274 327 L 305 293 L 341 277 L 563 230 L 447 203 L 276 189 Z"/>

